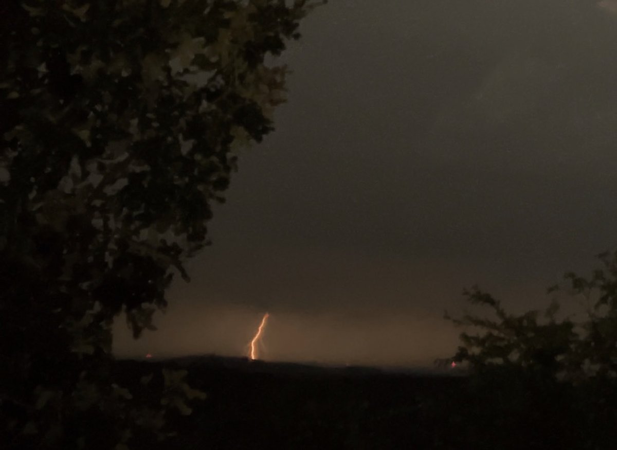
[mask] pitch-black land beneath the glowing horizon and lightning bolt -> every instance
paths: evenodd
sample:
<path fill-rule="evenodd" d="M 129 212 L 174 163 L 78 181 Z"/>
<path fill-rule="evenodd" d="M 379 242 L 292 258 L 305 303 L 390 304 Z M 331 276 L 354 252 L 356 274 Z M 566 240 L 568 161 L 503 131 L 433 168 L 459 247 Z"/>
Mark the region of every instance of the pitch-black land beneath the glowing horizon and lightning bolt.
<path fill-rule="evenodd" d="M 220 357 L 120 363 L 131 378 L 170 365 L 208 394 L 178 418 L 170 450 L 617 448 L 608 399 L 585 403 L 586 394 L 516 377 Z"/>

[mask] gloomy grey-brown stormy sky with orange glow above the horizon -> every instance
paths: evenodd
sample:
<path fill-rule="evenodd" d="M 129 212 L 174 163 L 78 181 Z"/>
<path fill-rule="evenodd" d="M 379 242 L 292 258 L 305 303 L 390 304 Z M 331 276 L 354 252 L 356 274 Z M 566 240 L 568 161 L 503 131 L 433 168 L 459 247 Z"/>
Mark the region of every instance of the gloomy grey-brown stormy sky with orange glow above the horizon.
<path fill-rule="evenodd" d="M 429 365 L 463 287 L 544 307 L 615 248 L 617 1 L 339 0 L 301 31 L 193 281 L 118 355 L 246 355 L 270 312 L 263 359 Z"/>

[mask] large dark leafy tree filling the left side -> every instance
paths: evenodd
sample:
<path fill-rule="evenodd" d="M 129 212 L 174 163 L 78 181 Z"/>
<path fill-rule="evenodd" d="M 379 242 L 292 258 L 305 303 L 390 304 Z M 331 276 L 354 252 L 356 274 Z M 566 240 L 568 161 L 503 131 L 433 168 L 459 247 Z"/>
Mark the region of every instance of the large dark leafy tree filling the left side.
<path fill-rule="evenodd" d="M 1 441 L 122 448 L 126 423 L 159 429 L 161 407 L 189 410 L 187 386 L 136 413 L 109 378 L 110 326 L 125 312 L 135 337 L 154 328 L 173 273 L 189 279 L 236 151 L 285 99 L 287 69 L 268 56 L 315 6 L 2 2 Z"/>

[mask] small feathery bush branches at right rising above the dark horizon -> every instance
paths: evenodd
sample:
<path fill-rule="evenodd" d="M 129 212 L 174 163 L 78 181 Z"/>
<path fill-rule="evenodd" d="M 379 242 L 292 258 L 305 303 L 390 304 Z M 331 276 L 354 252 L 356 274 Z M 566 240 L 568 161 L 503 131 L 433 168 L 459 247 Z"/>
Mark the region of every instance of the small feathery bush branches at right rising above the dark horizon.
<path fill-rule="evenodd" d="M 569 294 L 584 299 L 584 319 L 558 317 L 553 299 L 544 311 L 510 314 L 501 302 L 474 286 L 466 299 L 491 310 L 489 317 L 466 314 L 450 319 L 467 330 L 454 360 L 475 372 L 489 367 L 521 367 L 555 380 L 578 383 L 617 379 L 617 251 L 598 255 L 602 267 L 588 278 L 565 274 Z M 563 290 L 552 286 L 549 293 Z"/>

